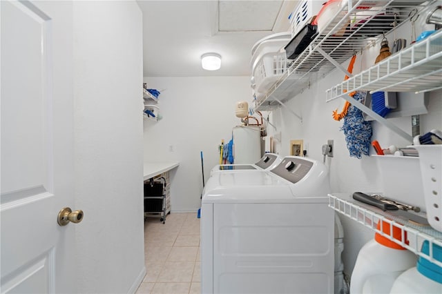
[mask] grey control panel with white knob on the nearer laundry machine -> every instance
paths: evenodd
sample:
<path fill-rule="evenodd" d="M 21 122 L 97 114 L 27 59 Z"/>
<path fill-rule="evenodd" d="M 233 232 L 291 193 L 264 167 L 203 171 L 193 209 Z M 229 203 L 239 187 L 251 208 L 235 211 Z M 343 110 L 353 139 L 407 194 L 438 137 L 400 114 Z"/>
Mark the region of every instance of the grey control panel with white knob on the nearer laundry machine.
<path fill-rule="evenodd" d="M 280 164 L 270 171 L 295 184 L 304 178 L 313 166 L 314 162 L 310 160 L 290 156 L 282 159 Z"/>

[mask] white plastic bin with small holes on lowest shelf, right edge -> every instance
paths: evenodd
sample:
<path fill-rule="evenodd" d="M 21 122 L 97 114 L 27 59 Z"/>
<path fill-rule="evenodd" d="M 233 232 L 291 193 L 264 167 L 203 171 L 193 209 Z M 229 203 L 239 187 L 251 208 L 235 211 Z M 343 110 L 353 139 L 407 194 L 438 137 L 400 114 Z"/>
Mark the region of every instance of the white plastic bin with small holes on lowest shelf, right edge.
<path fill-rule="evenodd" d="M 442 145 L 414 145 L 419 152 L 428 223 L 442 232 Z"/>

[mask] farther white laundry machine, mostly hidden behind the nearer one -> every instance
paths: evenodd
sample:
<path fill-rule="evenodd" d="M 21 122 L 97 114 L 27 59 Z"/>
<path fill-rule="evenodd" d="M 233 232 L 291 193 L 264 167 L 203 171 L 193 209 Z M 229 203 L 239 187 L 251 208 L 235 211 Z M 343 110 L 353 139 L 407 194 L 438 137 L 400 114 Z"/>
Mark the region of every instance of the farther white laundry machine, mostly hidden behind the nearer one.
<path fill-rule="evenodd" d="M 261 157 L 261 159 L 255 164 L 218 164 L 214 166 L 210 175 L 218 172 L 238 172 L 238 171 L 250 171 L 250 170 L 271 170 L 275 166 L 277 166 L 282 160 L 277 154 L 274 153 L 266 153 Z"/>

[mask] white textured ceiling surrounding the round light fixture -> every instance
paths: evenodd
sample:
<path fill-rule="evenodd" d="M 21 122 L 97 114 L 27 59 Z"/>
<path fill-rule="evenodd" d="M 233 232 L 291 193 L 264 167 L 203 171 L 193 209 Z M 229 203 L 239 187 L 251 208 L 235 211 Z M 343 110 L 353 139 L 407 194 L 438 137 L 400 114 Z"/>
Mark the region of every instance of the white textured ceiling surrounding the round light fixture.
<path fill-rule="evenodd" d="M 251 47 L 267 35 L 289 30 L 287 17 L 297 2 L 139 0 L 144 76 L 250 76 Z M 206 52 L 222 56 L 220 70 L 201 68 Z"/>

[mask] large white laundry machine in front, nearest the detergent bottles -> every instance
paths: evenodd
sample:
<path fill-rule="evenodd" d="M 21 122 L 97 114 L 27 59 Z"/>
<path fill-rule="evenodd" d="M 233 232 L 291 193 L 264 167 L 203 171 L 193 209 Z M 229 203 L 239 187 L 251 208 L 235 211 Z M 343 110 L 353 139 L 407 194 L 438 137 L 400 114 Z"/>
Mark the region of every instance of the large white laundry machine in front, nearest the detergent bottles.
<path fill-rule="evenodd" d="M 325 166 L 216 173 L 201 208 L 202 293 L 334 293 L 334 210 Z"/>

